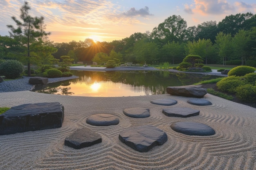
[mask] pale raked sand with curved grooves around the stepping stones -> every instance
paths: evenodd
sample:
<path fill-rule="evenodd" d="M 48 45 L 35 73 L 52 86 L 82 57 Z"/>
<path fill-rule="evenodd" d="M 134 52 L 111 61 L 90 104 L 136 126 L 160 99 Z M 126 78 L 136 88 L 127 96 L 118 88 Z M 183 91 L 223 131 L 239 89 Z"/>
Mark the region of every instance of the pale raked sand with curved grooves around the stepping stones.
<path fill-rule="evenodd" d="M 177 100 L 174 106 L 151 104 L 153 99 Z M 60 102 L 65 108 L 63 126 L 56 129 L 0 136 L 1 170 L 256 170 L 256 108 L 230 102 L 210 94 L 211 106 L 187 103 L 189 97 L 148 95 L 139 97 L 74 97 L 30 91 L 0 93 L 0 107 L 40 102 Z M 167 117 L 163 108 L 189 107 L 199 116 Z M 150 109 L 150 117 L 131 118 L 125 108 Z M 97 113 L 117 116 L 115 126 L 86 124 Z M 176 121 L 193 121 L 211 126 L 213 136 L 188 136 L 173 131 Z M 138 152 L 119 141 L 127 128 L 150 124 L 168 135 L 168 141 L 148 152 Z M 64 146 L 65 137 L 88 127 L 102 143 L 79 150 Z"/>

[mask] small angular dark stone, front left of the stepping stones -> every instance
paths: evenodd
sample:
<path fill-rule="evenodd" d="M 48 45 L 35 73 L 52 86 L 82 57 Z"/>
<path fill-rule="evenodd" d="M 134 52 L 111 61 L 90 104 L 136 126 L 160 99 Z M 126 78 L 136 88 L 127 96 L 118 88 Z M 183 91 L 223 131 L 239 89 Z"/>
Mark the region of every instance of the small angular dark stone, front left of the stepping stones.
<path fill-rule="evenodd" d="M 94 144 L 99 144 L 101 141 L 101 135 L 93 132 L 89 128 L 82 128 L 76 130 L 69 137 L 66 137 L 64 145 L 75 149 L 81 149 Z"/>

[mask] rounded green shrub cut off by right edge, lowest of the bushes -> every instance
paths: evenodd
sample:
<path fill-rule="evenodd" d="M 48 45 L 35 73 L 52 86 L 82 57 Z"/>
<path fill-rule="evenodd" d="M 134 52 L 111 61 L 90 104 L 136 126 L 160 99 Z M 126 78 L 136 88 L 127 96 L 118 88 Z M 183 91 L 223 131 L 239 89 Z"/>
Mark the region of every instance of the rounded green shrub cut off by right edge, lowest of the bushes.
<path fill-rule="evenodd" d="M 246 84 L 236 88 L 236 97 L 241 101 L 256 103 L 256 86 Z"/>

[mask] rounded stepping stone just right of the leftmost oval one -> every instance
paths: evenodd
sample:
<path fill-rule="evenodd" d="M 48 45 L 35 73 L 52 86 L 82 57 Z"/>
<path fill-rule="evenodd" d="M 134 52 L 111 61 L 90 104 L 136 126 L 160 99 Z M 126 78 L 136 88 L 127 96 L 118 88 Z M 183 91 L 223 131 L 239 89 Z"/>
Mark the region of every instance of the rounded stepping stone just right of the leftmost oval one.
<path fill-rule="evenodd" d="M 148 108 L 126 108 L 123 110 L 123 113 L 128 117 L 134 117 L 134 118 L 144 118 L 149 117 L 149 109 Z"/>

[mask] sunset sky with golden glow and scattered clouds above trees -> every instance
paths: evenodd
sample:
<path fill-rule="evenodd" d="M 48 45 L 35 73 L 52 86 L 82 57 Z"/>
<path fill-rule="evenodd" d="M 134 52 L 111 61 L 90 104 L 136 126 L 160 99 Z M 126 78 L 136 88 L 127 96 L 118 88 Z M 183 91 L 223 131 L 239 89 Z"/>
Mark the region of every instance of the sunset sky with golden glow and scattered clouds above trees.
<path fill-rule="evenodd" d="M 111 42 L 133 33 L 152 32 L 171 15 L 180 15 L 188 26 L 216 21 L 237 13 L 256 13 L 255 0 L 27 0 L 30 15 L 45 18 L 49 40 L 70 42 L 91 38 Z M 0 35 L 16 27 L 24 0 L 0 1 Z"/>

